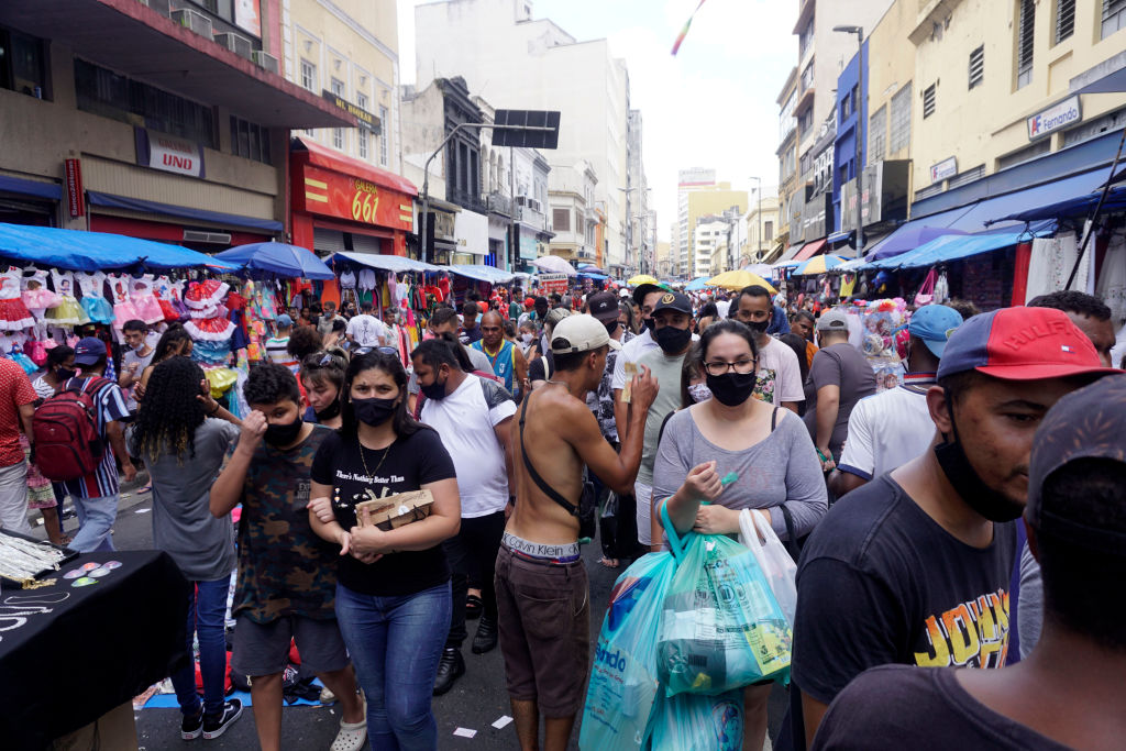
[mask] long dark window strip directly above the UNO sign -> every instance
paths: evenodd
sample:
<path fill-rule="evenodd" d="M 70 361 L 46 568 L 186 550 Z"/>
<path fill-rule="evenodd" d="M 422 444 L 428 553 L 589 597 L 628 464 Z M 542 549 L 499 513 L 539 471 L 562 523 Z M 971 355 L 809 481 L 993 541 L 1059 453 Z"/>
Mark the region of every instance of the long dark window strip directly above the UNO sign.
<path fill-rule="evenodd" d="M 138 119 L 145 127 L 218 146 L 218 123 L 214 110 L 175 93 L 133 81 L 84 60 L 74 59 L 74 91 L 78 108 L 129 125 Z"/>

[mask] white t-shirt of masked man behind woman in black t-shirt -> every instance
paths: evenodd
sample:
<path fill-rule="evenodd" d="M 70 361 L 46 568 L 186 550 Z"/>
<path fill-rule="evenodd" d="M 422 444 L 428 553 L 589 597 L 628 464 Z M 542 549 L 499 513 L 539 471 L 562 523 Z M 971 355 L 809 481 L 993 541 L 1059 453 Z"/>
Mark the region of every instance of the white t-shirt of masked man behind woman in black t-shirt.
<path fill-rule="evenodd" d="M 489 409 L 481 378 L 473 374 L 453 394 L 422 403 L 422 422 L 438 431 L 454 459 L 463 519 L 503 511 L 508 504 L 504 448 L 493 428 L 513 414 L 516 402 L 508 400 Z"/>

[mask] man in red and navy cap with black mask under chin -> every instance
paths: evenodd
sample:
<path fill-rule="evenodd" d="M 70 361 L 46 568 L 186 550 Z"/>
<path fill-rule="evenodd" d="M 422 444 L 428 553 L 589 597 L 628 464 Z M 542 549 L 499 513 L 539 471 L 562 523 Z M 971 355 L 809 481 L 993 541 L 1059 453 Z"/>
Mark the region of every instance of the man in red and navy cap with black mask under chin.
<path fill-rule="evenodd" d="M 927 392 L 931 450 L 830 508 L 802 553 L 797 748 L 868 668 L 1004 667 L 1033 436 L 1056 401 L 1106 372 L 1056 310 L 1008 307 L 950 336 Z"/>

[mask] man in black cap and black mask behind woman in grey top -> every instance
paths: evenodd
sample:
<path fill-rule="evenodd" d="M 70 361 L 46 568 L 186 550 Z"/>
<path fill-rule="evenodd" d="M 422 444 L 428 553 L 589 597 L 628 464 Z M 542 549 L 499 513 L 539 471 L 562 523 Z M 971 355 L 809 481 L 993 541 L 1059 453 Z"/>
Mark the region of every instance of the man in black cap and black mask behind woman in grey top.
<path fill-rule="evenodd" d="M 660 545 L 660 524 L 652 520 L 653 465 L 656 463 L 656 447 L 661 437 L 664 418 L 680 406 L 680 373 L 685 356 L 692 345 L 692 304 L 687 295 L 667 292 L 653 306 L 653 340 L 658 349 L 641 356 L 638 366 L 653 372 L 661 391 L 653 400 L 645 420 L 645 447 L 641 456 L 641 470 L 634 482 L 637 499 L 637 538 L 642 545 Z M 656 529 L 654 530 L 654 527 Z"/>

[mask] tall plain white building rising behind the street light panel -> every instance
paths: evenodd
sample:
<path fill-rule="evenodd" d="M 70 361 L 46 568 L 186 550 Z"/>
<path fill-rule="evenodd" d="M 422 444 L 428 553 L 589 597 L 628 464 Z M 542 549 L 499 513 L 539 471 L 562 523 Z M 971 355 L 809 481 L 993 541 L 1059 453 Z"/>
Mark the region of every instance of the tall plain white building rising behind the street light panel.
<path fill-rule="evenodd" d="M 548 160 L 591 164 L 607 222 L 601 252 L 606 263 L 624 266 L 628 74 L 607 41 L 580 42 L 549 19 L 534 19 L 531 0 L 430 2 L 414 9 L 414 26 L 418 81 L 462 75 L 497 106 L 562 113 Z"/>

